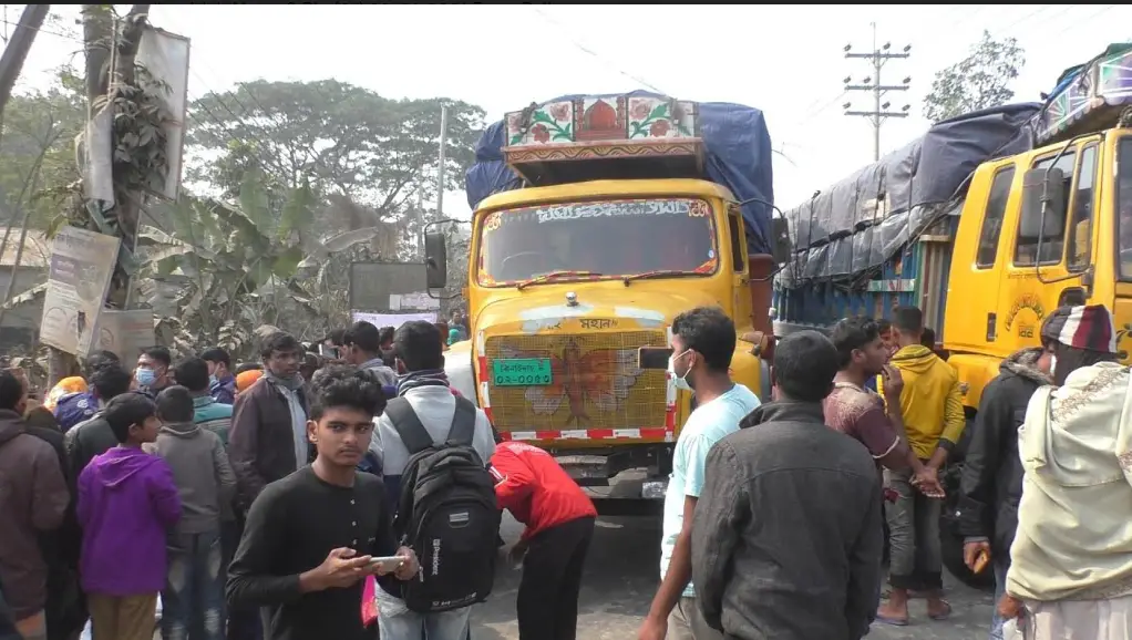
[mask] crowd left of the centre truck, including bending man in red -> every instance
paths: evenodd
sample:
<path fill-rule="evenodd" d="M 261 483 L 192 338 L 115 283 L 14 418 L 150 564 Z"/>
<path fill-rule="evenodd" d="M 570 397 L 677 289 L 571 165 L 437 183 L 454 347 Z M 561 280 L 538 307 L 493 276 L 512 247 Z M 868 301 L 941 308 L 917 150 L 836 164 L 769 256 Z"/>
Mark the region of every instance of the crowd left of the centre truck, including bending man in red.
<path fill-rule="evenodd" d="M 523 637 L 574 638 L 597 512 L 448 386 L 453 325 L 104 352 L 42 405 L 0 373 L 0 638 L 465 640 L 500 509 Z"/>

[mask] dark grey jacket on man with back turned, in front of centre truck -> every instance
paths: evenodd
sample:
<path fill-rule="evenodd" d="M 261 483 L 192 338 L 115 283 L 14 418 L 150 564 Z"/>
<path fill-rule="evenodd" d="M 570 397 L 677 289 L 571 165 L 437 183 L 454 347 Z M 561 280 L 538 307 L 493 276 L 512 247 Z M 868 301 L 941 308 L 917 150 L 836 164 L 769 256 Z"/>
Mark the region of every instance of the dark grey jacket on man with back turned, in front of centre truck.
<path fill-rule="evenodd" d="M 692 581 L 728 639 L 858 640 L 881 588 L 880 476 L 817 403 L 770 403 L 707 453 Z"/>

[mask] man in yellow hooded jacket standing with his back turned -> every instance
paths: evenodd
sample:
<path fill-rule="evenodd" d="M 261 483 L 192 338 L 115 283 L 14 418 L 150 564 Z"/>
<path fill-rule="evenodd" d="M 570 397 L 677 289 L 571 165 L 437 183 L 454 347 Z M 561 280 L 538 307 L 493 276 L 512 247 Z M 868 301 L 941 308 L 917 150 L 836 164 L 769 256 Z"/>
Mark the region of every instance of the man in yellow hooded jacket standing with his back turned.
<path fill-rule="evenodd" d="M 919 309 L 897 308 L 892 330 L 900 349 L 892 356 L 891 364 L 900 370 L 904 381 L 900 409 L 908 444 L 927 468 L 938 472 L 966 423 L 959 377 L 951 365 L 923 346 L 924 313 Z M 883 384 L 883 380 L 877 381 L 882 397 Z M 907 470 L 885 469 L 884 473 L 887 485 L 899 498 L 885 507 L 892 591 L 889 602 L 876 612 L 876 620 L 907 625 L 909 590 L 926 593 L 928 617 L 944 620 L 951 615 L 951 605 L 942 598 L 940 510 L 943 501 L 917 491 Z"/>

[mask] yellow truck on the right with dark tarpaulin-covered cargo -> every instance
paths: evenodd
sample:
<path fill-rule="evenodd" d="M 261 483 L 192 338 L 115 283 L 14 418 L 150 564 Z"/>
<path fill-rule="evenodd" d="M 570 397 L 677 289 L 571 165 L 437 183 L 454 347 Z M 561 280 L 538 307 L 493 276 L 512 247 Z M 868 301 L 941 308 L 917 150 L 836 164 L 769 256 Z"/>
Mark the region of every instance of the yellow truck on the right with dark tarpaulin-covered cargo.
<path fill-rule="evenodd" d="M 1038 346 L 1058 305 L 1113 311 L 1132 345 L 1132 45 L 1067 70 L 1041 104 L 935 124 L 788 209 L 794 256 L 775 283 L 775 332 L 915 304 L 959 373 L 971 431 L 1003 358 Z M 945 476 L 955 498 L 964 442 Z M 944 509 L 944 562 L 962 540 Z"/>

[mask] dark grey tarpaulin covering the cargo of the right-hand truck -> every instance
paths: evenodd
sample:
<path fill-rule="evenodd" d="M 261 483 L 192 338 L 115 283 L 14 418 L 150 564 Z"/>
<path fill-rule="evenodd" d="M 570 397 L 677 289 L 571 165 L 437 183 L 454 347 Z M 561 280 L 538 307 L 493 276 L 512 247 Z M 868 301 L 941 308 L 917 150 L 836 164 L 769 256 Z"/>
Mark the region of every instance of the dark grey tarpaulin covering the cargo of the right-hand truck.
<path fill-rule="evenodd" d="M 959 215 L 979 164 L 1031 148 L 1036 103 L 944 120 L 880 162 L 784 211 L 794 263 L 778 276 L 794 288 L 883 265 L 945 215 Z"/>

